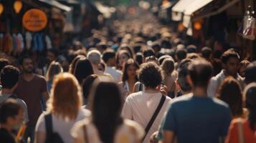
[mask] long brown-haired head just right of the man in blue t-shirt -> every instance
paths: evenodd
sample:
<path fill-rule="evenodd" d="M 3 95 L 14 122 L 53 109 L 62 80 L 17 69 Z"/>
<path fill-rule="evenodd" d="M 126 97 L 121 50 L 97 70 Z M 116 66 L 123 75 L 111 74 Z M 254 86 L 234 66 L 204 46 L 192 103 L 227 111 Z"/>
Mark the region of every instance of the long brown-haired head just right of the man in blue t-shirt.
<path fill-rule="evenodd" d="M 234 77 L 224 79 L 219 87 L 219 99 L 229 104 L 233 117 L 242 115 L 242 91 L 240 84 Z"/>

